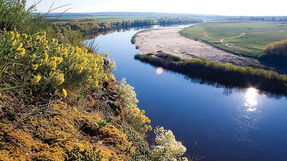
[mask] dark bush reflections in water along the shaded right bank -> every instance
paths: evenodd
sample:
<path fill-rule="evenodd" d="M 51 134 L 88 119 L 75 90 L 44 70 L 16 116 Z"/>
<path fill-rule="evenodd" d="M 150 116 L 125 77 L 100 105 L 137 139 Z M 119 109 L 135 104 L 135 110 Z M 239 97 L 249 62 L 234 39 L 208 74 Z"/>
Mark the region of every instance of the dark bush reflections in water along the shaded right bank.
<path fill-rule="evenodd" d="M 142 62 L 142 61 L 140 60 L 140 62 Z M 154 68 L 158 68 L 157 66 L 149 64 L 148 62 L 142 62 L 142 63 L 151 65 Z M 186 75 L 186 74 L 178 73 L 178 72 L 175 72 L 175 71 L 172 71 L 172 70 L 168 70 L 168 69 L 165 69 L 165 68 L 163 68 L 163 70 L 165 72 L 178 75 L 179 77 L 183 77 L 185 80 L 189 80 L 192 83 L 205 84 L 205 85 L 212 86 L 212 87 L 215 87 L 215 88 L 223 88 L 223 94 L 225 94 L 227 96 L 231 95 L 234 92 L 235 93 L 239 93 L 239 92 L 240 93 L 245 93 L 248 90 L 248 88 L 245 88 L 245 87 L 234 86 L 234 85 L 230 85 L 230 84 L 227 84 L 227 83 L 221 83 L 221 82 L 219 83 L 219 82 L 216 82 L 214 80 L 208 80 L 208 79 L 200 78 L 200 77 L 197 77 L 197 76 L 194 76 L 194 75 Z M 250 88 L 252 88 L 252 87 L 250 87 Z M 287 96 L 283 95 L 283 94 L 278 94 L 278 93 L 264 91 L 264 90 L 257 90 L 257 92 L 258 92 L 259 95 L 263 95 L 264 94 L 268 98 L 281 99 L 281 98 L 285 97 L 287 99 Z"/>

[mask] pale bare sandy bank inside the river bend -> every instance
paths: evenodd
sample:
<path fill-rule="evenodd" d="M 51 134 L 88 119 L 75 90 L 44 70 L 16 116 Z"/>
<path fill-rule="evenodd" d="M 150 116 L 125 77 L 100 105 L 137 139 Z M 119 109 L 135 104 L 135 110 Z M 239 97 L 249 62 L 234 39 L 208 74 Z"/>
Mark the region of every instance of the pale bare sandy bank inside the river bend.
<path fill-rule="evenodd" d="M 137 34 L 135 44 L 144 54 L 162 51 L 182 59 L 206 58 L 213 62 L 232 63 L 236 66 L 261 65 L 258 61 L 246 59 L 213 48 L 207 44 L 181 36 L 182 28 L 147 30 Z"/>

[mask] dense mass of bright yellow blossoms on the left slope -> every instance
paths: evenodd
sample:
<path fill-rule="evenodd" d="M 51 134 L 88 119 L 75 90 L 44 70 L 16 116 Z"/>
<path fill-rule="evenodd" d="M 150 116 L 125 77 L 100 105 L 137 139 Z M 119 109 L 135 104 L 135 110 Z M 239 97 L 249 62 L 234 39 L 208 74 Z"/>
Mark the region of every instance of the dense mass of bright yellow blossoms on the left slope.
<path fill-rule="evenodd" d="M 72 46 L 55 38 L 48 39 L 46 32 L 34 36 L 25 33 L 20 35 L 13 31 L 4 34 L 8 36 L 11 48 L 14 49 L 15 59 L 21 58 L 21 64 L 29 66 L 33 75 L 36 75 L 31 82 L 38 83 L 42 78 L 42 85 L 50 86 L 47 90 L 53 87 L 53 90 L 60 91 L 58 86 L 64 81 L 65 85 L 71 83 L 71 87 L 96 89 L 99 83 L 108 80 L 109 72 L 103 70 L 103 57 L 109 57 L 106 52 L 90 53 L 83 46 Z M 68 75 L 67 79 L 65 75 Z M 62 91 L 58 95 L 65 98 L 67 91 Z"/>

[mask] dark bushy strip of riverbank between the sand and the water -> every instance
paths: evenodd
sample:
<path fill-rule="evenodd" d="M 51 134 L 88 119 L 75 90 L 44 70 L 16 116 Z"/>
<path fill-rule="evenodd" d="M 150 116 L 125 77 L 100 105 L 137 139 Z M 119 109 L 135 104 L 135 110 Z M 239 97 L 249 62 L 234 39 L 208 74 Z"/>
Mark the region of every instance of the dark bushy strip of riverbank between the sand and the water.
<path fill-rule="evenodd" d="M 211 62 L 206 59 L 181 60 L 180 57 L 165 53 L 136 54 L 135 59 L 187 75 L 195 75 L 236 86 L 248 88 L 252 86 L 287 94 L 287 75 L 281 75 L 274 71 L 252 67 L 237 67 L 231 64 Z"/>

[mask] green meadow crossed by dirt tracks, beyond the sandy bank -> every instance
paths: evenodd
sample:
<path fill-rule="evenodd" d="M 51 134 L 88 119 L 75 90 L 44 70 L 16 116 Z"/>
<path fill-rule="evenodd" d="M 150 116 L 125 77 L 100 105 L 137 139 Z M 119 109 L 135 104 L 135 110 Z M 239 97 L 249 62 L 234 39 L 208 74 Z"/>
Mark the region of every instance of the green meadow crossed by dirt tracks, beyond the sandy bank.
<path fill-rule="evenodd" d="M 287 23 L 214 20 L 186 28 L 180 33 L 216 48 L 257 59 L 267 44 L 287 39 Z"/>

